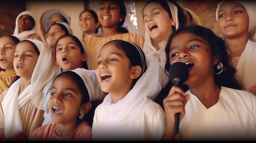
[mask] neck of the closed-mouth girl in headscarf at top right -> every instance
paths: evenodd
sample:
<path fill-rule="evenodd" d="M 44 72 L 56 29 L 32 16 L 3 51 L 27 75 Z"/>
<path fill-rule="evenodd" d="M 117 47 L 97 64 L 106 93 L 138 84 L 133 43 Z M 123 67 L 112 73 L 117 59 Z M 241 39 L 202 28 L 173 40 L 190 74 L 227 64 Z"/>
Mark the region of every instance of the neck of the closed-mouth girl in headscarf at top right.
<path fill-rule="evenodd" d="M 225 37 L 225 41 L 229 46 L 231 57 L 240 57 L 248 42 L 248 34 L 236 38 Z"/>

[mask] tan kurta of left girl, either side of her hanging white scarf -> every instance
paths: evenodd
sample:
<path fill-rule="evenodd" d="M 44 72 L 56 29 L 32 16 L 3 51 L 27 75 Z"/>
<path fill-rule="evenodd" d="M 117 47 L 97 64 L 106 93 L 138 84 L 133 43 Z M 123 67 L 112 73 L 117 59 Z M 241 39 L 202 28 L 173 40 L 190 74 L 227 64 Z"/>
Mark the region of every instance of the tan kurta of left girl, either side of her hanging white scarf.
<path fill-rule="evenodd" d="M 4 112 L 2 109 L 2 100 L 6 95 L 7 90 L 0 95 L 0 128 L 4 128 Z M 36 108 L 31 99 L 20 108 L 20 119 L 22 122 L 23 133 L 27 135 L 27 139 L 32 138 L 32 134 L 36 128 L 40 127 L 43 123 L 44 110 Z"/>

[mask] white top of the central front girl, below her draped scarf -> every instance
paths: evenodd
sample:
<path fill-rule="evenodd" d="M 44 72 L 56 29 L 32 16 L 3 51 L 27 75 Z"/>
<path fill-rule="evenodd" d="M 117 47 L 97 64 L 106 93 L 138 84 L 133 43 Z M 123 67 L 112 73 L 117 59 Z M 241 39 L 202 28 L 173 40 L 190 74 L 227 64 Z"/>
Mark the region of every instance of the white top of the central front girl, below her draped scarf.
<path fill-rule="evenodd" d="M 165 114 L 162 108 L 147 99 L 141 111 L 127 122 L 119 123 L 109 117 L 100 104 L 94 114 L 92 124 L 93 140 L 160 140 L 165 128 Z"/>

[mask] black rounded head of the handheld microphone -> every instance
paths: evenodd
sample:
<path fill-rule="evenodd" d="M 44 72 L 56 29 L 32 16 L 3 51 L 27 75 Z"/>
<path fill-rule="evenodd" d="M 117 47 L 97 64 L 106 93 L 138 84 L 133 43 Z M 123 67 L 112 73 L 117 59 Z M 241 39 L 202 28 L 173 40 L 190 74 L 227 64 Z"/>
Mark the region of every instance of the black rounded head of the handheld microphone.
<path fill-rule="evenodd" d="M 181 87 L 182 84 L 189 78 L 188 64 L 183 62 L 175 62 L 169 68 L 169 79 L 175 85 Z"/>

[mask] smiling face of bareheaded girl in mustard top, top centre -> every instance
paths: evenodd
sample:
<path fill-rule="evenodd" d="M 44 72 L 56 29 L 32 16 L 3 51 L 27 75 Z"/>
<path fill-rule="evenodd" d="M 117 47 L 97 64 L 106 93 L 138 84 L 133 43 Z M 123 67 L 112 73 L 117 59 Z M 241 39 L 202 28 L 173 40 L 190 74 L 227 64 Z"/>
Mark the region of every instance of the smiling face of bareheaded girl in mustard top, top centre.
<path fill-rule="evenodd" d="M 103 0 L 99 8 L 98 19 L 103 27 L 115 26 L 120 20 L 120 7 L 113 0 Z"/>

